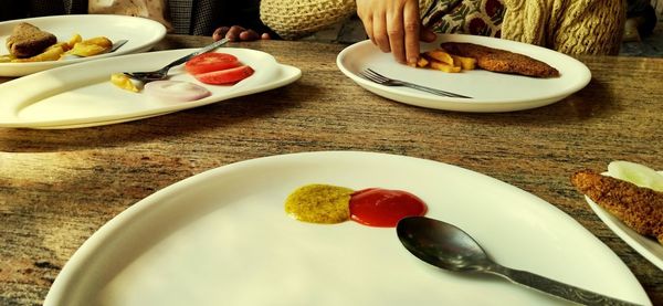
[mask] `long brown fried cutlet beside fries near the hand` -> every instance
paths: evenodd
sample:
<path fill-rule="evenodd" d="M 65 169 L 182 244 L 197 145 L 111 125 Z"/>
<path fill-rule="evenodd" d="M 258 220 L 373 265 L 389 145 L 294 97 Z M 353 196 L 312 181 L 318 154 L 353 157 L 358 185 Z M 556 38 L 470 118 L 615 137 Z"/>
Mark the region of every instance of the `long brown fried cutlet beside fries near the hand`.
<path fill-rule="evenodd" d="M 550 65 L 506 50 L 462 42 L 445 42 L 440 46 L 451 54 L 476 59 L 476 65 L 483 70 L 534 77 L 559 76 Z"/>

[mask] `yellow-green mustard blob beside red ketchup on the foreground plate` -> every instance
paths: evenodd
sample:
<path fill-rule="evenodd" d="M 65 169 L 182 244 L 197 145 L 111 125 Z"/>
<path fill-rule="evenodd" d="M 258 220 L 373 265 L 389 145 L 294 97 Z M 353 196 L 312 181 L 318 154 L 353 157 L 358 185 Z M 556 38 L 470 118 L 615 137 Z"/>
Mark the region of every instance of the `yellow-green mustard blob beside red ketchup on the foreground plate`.
<path fill-rule="evenodd" d="M 285 212 L 311 223 L 340 223 L 350 219 L 352 189 L 330 184 L 306 184 L 297 188 L 285 200 Z"/>

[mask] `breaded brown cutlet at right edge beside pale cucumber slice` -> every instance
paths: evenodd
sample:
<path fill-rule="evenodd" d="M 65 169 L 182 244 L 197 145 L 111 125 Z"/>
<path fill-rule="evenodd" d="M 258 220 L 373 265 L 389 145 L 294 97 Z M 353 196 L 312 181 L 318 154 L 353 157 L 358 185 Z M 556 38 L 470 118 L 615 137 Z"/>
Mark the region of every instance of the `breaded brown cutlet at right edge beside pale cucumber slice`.
<path fill-rule="evenodd" d="M 612 213 L 635 232 L 663 244 L 663 192 L 628 181 L 580 170 L 571 176 L 578 191 Z"/>

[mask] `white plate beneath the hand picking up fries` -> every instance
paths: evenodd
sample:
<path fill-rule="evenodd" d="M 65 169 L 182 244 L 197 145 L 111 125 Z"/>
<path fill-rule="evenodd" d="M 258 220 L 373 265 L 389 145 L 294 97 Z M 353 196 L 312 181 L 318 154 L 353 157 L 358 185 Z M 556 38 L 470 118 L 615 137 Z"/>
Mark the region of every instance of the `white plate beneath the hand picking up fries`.
<path fill-rule="evenodd" d="M 398 64 L 390 53 L 382 53 L 370 41 L 358 42 L 338 54 L 340 71 L 364 88 L 397 102 L 457 112 L 511 112 L 540 107 L 558 102 L 583 88 L 591 78 L 589 68 L 573 57 L 549 49 L 508 40 L 476 35 L 443 34 L 421 50 L 440 46 L 441 42 L 471 42 L 522 53 L 557 68 L 561 76 L 535 78 L 493 73 L 483 70 L 443 73 Z M 366 68 L 393 78 L 409 81 L 473 98 L 441 97 L 407 87 L 388 87 L 359 75 Z"/>

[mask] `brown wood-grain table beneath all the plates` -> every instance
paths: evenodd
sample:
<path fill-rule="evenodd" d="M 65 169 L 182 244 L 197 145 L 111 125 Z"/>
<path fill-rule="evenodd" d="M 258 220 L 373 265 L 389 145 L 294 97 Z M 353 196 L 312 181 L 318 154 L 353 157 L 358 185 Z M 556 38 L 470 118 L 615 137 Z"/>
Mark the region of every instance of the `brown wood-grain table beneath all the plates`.
<path fill-rule="evenodd" d="M 210 41 L 168 36 L 157 50 Z M 615 236 L 569 183 L 573 170 L 603 170 L 617 159 L 663 168 L 663 60 L 585 56 L 591 83 L 559 103 L 466 114 L 360 88 L 336 67 L 344 45 L 235 45 L 266 51 L 303 76 L 274 91 L 126 124 L 0 128 L 0 305 L 42 303 L 87 238 L 159 189 L 240 160 L 316 150 L 427 158 L 532 192 L 610 246 L 663 305 L 663 272 Z"/>

